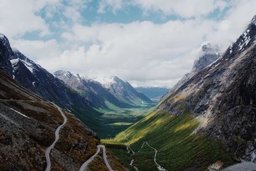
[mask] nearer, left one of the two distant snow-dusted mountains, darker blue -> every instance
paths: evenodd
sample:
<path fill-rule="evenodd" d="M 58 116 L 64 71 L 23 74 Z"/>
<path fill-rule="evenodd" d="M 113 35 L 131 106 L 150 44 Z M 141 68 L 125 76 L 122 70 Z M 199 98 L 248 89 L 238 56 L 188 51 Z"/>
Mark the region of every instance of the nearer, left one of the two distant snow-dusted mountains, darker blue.
<path fill-rule="evenodd" d="M 69 71 L 56 71 L 54 76 L 63 80 L 65 84 L 76 89 L 82 96 L 86 97 L 95 108 L 109 108 L 109 103 L 115 107 L 131 108 L 132 105 L 119 101 L 108 89 L 99 82 L 72 74 Z"/>

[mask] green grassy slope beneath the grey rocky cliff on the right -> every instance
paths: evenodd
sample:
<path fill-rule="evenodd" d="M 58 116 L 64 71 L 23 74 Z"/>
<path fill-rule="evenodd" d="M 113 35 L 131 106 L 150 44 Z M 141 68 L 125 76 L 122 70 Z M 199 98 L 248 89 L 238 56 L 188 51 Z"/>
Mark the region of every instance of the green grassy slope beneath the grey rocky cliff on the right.
<path fill-rule="evenodd" d="M 157 163 L 168 170 L 184 170 L 193 168 L 204 170 L 217 160 L 225 165 L 232 163 L 232 154 L 223 151 L 217 140 L 207 137 L 191 135 L 200 124 L 195 117 L 184 114 L 180 116 L 166 114 L 164 112 L 152 112 L 147 117 L 125 130 L 129 142 L 125 140 L 124 133 L 119 133 L 113 140 L 104 140 L 106 144 L 131 144 L 134 151 L 138 151 L 144 141 L 158 150 Z M 127 166 L 127 161 L 134 158 L 134 164 L 140 170 L 157 170 L 154 164 L 154 151 L 143 147 L 143 150 L 134 156 L 122 154 L 124 149 L 116 149 L 113 152 Z M 148 153 L 149 152 L 149 153 Z M 129 163 L 128 163 L 129 164 Z"/>

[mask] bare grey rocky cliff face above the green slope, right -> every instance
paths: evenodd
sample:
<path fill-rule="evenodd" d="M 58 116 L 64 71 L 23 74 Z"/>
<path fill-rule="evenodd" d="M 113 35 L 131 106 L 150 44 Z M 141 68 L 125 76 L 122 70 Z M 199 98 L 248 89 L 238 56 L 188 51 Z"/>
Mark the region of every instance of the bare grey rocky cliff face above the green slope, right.
<path fill-rule="evenodd" d="M 256 149 L 255 37 L 255 20 L 252 20 L 223 56 L 188 78 L 159 107 L 170 114 L 189 112 L 202 119 L 194 133 L 219 138 L 239 158 L 253 161 Z"/>

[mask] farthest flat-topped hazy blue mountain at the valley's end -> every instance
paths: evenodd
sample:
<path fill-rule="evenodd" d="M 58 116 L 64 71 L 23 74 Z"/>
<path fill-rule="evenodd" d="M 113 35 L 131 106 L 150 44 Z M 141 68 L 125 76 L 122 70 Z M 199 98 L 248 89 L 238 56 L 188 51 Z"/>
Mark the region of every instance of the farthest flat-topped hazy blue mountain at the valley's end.
<path fill-rule="evenodd" d="M 135 89 L 145 94 L 151 100 L 159 100 L 161 96 L 170 91 L 167 87 L 136 87 Z"/>

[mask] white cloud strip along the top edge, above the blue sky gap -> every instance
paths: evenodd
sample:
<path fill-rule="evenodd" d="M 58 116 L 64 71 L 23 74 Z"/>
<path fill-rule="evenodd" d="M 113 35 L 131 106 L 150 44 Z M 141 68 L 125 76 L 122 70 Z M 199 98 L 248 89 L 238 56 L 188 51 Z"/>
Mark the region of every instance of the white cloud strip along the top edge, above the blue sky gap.
<path fill-rule="evenodd" d="M 227 6 L 225 0 L 101 0 L 99 12 L 111 10 L 114 13 L 126 6 L 140 7 L 144 13 L 161 11 L 164 15 L 179 15 L 184 18 L 207 15 L 216 9 Z"/>

